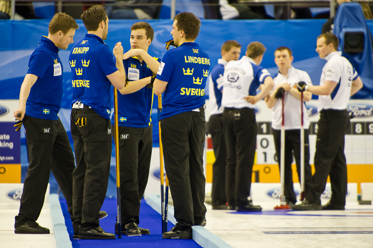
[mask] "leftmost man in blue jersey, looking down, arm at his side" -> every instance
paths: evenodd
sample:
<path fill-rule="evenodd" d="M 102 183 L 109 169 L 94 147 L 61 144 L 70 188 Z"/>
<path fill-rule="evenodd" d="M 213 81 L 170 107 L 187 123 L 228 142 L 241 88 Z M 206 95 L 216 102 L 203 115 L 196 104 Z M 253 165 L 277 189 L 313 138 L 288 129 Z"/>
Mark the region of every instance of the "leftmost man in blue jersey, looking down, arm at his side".
<path fill-rule="evenodd" d="M 53 16 L 48 36 L 43 36 L 28 62 L 28 71 L 19 93 L 14 117 L 23 121 L 29 150 L 29 166 L 23 184 L 16 234 L 49 234 L 36 223 L 44 203 L 52 170 L 72 214 L 74 156 L 66 131 L 57 113 L 62 101 L 63 66 L 61 49 L 73 43 L 77 22 L 65 13 Z"/>

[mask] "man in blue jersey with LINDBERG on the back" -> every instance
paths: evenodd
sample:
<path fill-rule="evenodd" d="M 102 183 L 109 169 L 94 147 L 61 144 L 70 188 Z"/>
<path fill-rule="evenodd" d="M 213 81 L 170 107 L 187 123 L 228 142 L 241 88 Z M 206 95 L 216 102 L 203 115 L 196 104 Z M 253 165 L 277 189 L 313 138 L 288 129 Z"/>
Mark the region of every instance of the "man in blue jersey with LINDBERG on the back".
<path fill-rule="evenodd" d="M 162 144 L 175 209 L 175 227 L 164 239 L 191 239 L 191 226 L 205 225 L 203 146 L 206 134 L 204 88 L 210 59 L 194 40 L 201 21 L 193 13 L 174 17 L 178 47 L 165 53 L 154 82 L 163 96 Z"/>

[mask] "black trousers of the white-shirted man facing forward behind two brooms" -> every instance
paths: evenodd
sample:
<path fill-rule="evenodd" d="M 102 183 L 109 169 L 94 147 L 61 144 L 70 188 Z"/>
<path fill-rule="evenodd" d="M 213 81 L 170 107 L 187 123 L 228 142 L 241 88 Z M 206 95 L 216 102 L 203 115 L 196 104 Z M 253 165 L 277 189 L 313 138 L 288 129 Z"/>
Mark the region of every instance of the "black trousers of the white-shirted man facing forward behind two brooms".
<path fill-rule="evenodd" d="M 281 130 L 272 129 L 273 138 L 275 141 L 275 149 L 277 158 L 281 161 Z M 304 129 L 304 195 L 309 192 L 309 182 L 312 177 L 311 165 L 309 165 L 309 140 L 308 129 Z M 296 202 L 296 194 L 293 188 L 293 173 L 291 163 L 293 162 L 293 155 L 295 158 L 296 169 L 300 179 L 300 130 L 285 130 L 285 176 L 284 176 L 284 195 L 286 202 Z"/>

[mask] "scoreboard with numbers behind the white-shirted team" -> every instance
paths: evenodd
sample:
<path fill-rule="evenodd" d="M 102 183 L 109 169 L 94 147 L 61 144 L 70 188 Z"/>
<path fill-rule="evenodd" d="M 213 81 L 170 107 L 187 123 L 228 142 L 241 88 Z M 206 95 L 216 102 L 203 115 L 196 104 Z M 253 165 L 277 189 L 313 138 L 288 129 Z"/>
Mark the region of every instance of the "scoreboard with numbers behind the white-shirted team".
<path fill-rule="evenodd" d="M 310 165 L 314 172 L 314 156 L 316 150 L 317 100 L 306 102 L 309 125 Z M 206 120 L 209 118 L 209 102 L 206 101 Z M 285 106 L 286 107 L 286 106 Z M 299 104 L 300 107 L 300 104 Z M 373 100 L 350 100 L 348 111 L 354 114 L 350 126 L 345 132 L 345 155 L 347 161 L 348 182 L 356 182 L 360 193 L 361 182 L 373 182 Z M 259 127 L 257 149 L 253 167 L 253 182 L 280 182 L 280 170 L 272 135 L 272 109 L 264 100 L 255 104 L 256 120 Z M 286 118 L 286 117 L 285 117 Z M 206 139 L 206 182 L 212 181 L 212 164 L 215 156 L 210 137 Z M 294 160 L 295 161 L 295 160 Z M 298 182 L 295 162 L 292 165 L 293 182 Z M 329 181 L 329 180 L 328 180 Z"/>

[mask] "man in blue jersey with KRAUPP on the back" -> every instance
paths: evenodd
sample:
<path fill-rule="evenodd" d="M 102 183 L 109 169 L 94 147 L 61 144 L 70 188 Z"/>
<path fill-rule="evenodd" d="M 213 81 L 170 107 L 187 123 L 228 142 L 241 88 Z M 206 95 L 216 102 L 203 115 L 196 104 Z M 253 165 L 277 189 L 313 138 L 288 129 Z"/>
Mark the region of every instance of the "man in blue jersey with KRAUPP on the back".
<path fill-rule="evenodd" d="M 99 226 L 98 211 L 110 170 L 110 85 L 117 89 L 125 85 L 123 47 L 118 42 L 111 53 L 103 42 L 109 22 L 103 6 L 90 7 L 81 19 L 88 33 L 74 45 L 69 57 L 73 86 L 70 124 L 77 163 L 73 172 L 74 237 L 115 239 Z"/>

